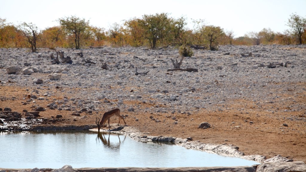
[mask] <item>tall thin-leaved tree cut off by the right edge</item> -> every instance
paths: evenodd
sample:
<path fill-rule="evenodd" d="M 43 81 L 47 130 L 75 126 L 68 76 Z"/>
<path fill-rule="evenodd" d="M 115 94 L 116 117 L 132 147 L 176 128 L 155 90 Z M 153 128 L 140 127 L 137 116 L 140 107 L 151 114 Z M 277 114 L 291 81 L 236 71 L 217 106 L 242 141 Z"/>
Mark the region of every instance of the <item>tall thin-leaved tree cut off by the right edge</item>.
<path fill-rule="evenodd" d="M 288 19 L 287 25 L 297 36 L 298 43 L 302 44 L 302 36 L 304 35 L 304 30 L 306 29 L 306 18 L 292 13 Z"/>

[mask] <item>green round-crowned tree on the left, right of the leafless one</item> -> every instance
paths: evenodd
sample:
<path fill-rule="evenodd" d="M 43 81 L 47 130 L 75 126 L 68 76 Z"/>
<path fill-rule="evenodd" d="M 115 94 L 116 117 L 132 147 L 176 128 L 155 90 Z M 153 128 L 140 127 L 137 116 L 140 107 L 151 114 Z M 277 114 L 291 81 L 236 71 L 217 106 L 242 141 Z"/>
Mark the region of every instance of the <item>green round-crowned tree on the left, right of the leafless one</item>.
<path fill-rule="evenodd" d="M 68 35 L 74 37 L 75 47 L 79 49 L 80 39 L 88 28 L 89 21 L 85 21 L 85 19 L 80 19 L 76 16 L 60 18 L 58 21 Z"/>

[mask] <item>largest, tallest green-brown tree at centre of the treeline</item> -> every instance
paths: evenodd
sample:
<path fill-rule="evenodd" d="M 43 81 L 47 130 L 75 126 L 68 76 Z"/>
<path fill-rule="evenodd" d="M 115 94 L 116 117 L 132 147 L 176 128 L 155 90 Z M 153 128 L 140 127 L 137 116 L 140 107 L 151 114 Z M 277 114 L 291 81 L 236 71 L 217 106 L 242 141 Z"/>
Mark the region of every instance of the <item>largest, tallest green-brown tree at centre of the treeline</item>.
<path fill-rule="evenodd" d="M 157 44 L 162 44 L 170 32 L 170 20 L 167 13 L 156 13 L 155 15 L 143 15 L 142 19 L 138 19 L 140 26 L 144 29 L 144 38 L 149 41 L 152 49 Z"/>

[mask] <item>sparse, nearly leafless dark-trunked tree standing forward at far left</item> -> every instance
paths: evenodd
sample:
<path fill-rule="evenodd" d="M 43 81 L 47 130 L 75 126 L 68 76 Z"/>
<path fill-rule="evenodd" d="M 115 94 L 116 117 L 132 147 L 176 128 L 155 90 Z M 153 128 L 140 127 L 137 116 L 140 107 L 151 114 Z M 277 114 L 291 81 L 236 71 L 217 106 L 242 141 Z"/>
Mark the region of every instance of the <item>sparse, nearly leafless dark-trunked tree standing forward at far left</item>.
<path fill-rule="evenodd" d="M 30 43 L 32 52 L 36 52 L 36 41 L 38 40 L 40 36 L 40 31 L 35 24 L 32 23 L 22 23 L 19 25 L 19 28 L 22 32 L 22 34 L 25 36 L 25 40 Z"/>

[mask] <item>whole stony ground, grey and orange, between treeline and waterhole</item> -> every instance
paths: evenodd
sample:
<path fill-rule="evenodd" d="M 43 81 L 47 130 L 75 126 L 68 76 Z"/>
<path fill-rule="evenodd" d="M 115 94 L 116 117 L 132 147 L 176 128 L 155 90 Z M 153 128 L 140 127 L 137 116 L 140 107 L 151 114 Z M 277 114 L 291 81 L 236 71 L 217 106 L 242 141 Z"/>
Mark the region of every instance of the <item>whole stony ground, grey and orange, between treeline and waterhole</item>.
<path fill-rule="evenodd" d="M 181 59 L 172 48 L 59 50 L 72 64 L 56 64 L 54 50 L 0 49 L 1 130 L 89 129 L 119 108 L 147 135 L 306 162 L 304 45 L 194 50 L 181 68 L 198 72 L 167 71 Z"/>

